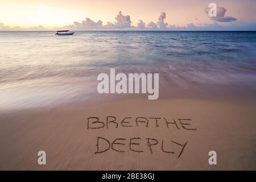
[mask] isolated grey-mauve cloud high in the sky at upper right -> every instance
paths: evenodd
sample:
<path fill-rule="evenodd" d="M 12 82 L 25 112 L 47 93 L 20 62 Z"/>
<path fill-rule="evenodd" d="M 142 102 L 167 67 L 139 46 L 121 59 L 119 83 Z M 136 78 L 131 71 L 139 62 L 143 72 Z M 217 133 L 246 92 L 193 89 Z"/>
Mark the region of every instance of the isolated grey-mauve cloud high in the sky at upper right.
<path fill-rule="evenodd" d="M 209 13 L 210 8 L 205 8 L 205 13 Z M 217 7 L 217 16 L 210 17 L 210 19 L 214 20 L 215 22 L 234 22 L 237 19 L 233 18 L 232 16 L 225 16 L 226 9 L 225 7 Z"/>

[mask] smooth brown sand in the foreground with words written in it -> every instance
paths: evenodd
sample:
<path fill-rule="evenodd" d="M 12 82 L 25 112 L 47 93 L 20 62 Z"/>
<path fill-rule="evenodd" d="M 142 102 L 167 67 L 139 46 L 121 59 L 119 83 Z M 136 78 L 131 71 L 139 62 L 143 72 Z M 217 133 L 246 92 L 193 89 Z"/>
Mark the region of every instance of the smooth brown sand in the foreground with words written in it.
<path fill-rule="evenodd" d="M 0 169 L 255 170 L 255 110 L 256 105 L 249 99 L 178 97 L 159 100 L 126 97 L 73 102 L 51 109 L 12 110 L 0 116 Z M 108 116 L 117 119 L 117 128 L 113 122 L 106 128 Z M 88 129 L 89 117 L 98 117 L 105 126 Z M 129 123 L 121 123 L 127 117 L 131 117 L 126 120 Z M 147 125 L 136 122 L 138 117 L 151 119 Z M 152 118 L 160 118 L 158 127 Z M 170 123 L 167 127 L 164 118 L 169 122 L 175 119 L 177 125 Z M 179 119 L 191 119 L 181 121 L 190 125 L 182 126 Z M 103 124 L 89 122 L 89 127 L 96 125 Z M 123 152 L 110 146 L 108 151 L 95 154 L 97 137 L 110 143 L 122 138 L 116 143 L 123 144 L 114 144 L 113 148 Z M 130 142 L 131 138 L 141 139 Z M 150 149 L 148 138 L 150 143 L 155 142 L 152 139 L 158 140 L 158 144 Z M 130 146 L 130 143 L 138 144 Z M 100 140 L 98 147 L 104 150 L 108 144 Z M 38 164 L 39 151 L 46 151 L 45 166 Z M 209 165 L 209 151 L 217 152 L 217 165 Z"/>

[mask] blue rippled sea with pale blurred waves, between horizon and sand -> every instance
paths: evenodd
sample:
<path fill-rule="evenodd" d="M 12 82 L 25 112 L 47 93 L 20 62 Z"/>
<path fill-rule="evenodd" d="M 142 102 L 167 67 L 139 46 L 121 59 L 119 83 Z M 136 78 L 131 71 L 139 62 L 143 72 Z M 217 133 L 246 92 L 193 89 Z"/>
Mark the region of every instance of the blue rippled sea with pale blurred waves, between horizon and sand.
<path fill-rule="evenodd" d="M 256 32 L 0 31 L 0 109 L 97 99 L 97 75 L 110 68 L 158 72 L 162 93 L 246 96 L 256 91 Z"/>

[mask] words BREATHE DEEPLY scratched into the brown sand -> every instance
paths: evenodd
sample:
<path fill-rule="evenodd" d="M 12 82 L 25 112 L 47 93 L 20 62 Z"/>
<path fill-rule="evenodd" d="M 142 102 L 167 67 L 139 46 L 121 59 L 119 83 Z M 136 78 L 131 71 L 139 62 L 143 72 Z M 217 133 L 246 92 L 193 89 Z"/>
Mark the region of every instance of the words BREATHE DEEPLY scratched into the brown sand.
<path fill-rule="evenodd" d="M 99 130 L 99 129 L 118 129 L 118 128 L 130 128 L 133 127 L 166 127 L 166 129 L 170 129 L 171 127 L 176 130 L 184 130 L 184 131 L 195 131 L 197 130 L 195 127 L 191 126 L 192 119 L 167 119 L 161 117 L 125 117 L 118 119 L 114 116 L 108 116 L 104 119 L 100 119 L 98 117 L 89 117 L 87 118 L 87 129 L 88 130 Z M 113 131 L 113 130 L 112 130 Z M 142 144 L 146 144 L 147 147 L 143 147 Z M 109 150 L 115 152 L 150 152 L 150 154 L 154 154 L 157 150 L 165 154 L 176 154 L 177 158 L 180 158 L 181 154 L 183 154 L 185 147 L 188 142 L 177 142 L 174 139 L 157 139 L 152 137 L 130 137 L 130 138 L 122 138 L 117 137 L 114 139 L 109 139 L 107 137 L 97 137 L 96 139 L 96 147 L 97 150 L 94 154 L 102 154 Z M 126 146 L 126 150 L 124 147 Z M 158 148 L 157 148 L 158 147 Z M 143 149 L 144 148 L 144 149 Z M 145 149 L 146 148 L 146 149 Z"/>

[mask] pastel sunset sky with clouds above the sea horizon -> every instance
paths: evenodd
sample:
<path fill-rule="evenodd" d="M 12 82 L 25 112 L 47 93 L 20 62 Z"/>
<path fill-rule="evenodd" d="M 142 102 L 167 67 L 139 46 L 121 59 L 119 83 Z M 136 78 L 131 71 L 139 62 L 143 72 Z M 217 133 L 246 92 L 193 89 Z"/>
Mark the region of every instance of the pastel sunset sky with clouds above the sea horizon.
<path fill-rule="evenodd" d="M 212 2 L 217 18 L 205 11 Z M 256 30 L 255 7 L 255 0 L 0 0 L 0 30 Z"/>

